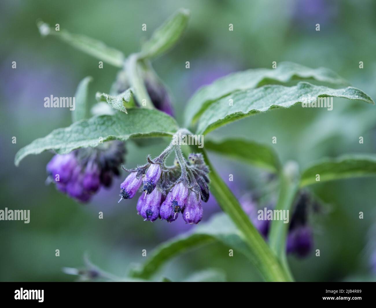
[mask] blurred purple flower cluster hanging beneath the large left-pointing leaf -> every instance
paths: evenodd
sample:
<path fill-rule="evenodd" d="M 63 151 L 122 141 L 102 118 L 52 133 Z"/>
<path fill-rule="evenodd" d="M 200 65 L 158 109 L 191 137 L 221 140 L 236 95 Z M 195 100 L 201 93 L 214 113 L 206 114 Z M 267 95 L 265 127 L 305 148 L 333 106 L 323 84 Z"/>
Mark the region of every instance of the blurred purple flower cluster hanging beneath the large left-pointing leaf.
<path fill-rule="evenodd" d="M 68 196 L 88 202 L 100 186 L 110 187 L 125 154 L 124 144 L 109 141 L 96 148 L 82 148 L 69 154 L 56 154 L 47 164 L 49 181 Z"/>

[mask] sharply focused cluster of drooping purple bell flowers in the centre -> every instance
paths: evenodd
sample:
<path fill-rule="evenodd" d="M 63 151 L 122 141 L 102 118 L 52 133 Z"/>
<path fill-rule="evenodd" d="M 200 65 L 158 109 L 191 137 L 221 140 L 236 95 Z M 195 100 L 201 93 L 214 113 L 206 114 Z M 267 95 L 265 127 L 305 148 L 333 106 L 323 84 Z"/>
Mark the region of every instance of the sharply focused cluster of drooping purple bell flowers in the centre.
<path fill-rule="evenodd" d="M 200 154 L 191 154 L 187 162 L 190 181 L 179 176 L 179 163 L 166 169 L 161 163 L 149 163 L 129 170 L 130 174 L 120 185 L 121 199 L 131 199 L 141 188 L 144 194 L 138 198 L 137 213 L 144 220 L 157 218 L 173 222 L 179 213 L 188 224 L 197 224 L 202 219 L 201 200 L 209 199 L 209 172 Z M 119 200 L 119 202 L 120 202 Z"/>

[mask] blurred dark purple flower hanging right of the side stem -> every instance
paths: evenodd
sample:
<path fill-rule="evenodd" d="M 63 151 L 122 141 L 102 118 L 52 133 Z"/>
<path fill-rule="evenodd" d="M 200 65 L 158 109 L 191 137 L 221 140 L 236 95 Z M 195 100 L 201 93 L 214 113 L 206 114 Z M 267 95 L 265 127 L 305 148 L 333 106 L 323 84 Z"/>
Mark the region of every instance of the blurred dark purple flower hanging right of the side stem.
<path fill-rule="evenodd" d="M 290 231 L 287 236 L 287 252 L 295 253 L 299 257 L 308 255 L 312 249 L 312 245 L 313 237 L 309 226 L 299 226 Z"/>

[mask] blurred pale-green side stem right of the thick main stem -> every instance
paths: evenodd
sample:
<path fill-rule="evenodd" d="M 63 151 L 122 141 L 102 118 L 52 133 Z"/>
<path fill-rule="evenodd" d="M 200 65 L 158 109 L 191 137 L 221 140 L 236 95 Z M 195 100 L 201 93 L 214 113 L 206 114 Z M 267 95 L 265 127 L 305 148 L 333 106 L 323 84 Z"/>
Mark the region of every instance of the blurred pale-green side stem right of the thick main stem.
<path fill-rule="evenodd" d="M 288 211 L 288 217 L 291 219 L 291 207 L 293 205 L 296 193 L 298 191 L 297 165 L 295 162 L 289 162 L 280 173 L 280 190 L 276 205 L 276 210 Z M 278 256 L 286 272 L 290 273 L 286 258 L 286 237 L 288 232 L 288 223 L 283 220 L 273 220 L 271 222 L 269 245 L 271 250 Z M 290 273 L 291 276 L 291 273 Z"/>

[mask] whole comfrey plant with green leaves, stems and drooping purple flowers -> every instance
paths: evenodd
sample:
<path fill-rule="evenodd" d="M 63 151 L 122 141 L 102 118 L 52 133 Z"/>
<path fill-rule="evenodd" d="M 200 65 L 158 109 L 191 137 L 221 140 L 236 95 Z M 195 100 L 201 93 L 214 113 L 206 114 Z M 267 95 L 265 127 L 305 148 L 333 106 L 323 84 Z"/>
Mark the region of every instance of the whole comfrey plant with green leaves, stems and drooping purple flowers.
<path fill-rule="evenodd" d="M 188 11 L 180 9 L 154 31 L 142 45 L 141 51 L 127 57 L 95 39 L 38 22 L 42 35 L 56 36 L 97 57 L 100 68 L 114 65 L 120 68 L 120 72 L 109 94 L 97 93 L 98 103 L 93 106 L 94 115 L 89 118 L 86 117 L 86 102 L 90 78 L 83 79 L 75 96 L 76 108 L 71 111 L 74 123 L 53 130 L 46 137 L 20 149 L 15 156 L 15 164 L 18 165 L 29 154 L 52 150 L 57 156 L 49 163 L 47 170 L 54 181 L 59 175 L 61 181 L 56 183 L 58 189 L 77 200 L 87 201 L 100 185 L 109 185 L 109 179 L 117 173 L 115 170 L 122 161 L 120 156 L 124 154 L 117 141 L 142 137 L 173 139 L 179 132 L 205 136 L 218 127 L 259 112 L 300 105 L 302 97 L 333 97 L 334 103 L 340 97 L 374 104 L 367 94 L 349 86 L 346 80 L 331 70 L 274 62 L 271 68 L 233 73 L 200 88 L 186 104 L 184 123 L 179 127 L 171 116 L 170 96 L 153 71 L 151 61 L 177 42 L 187 26 L 188 18 Z M 186 59 L 182 61 L 184 63 Z M 310 109 L 309 112 L 316 110 Z M 278 137 L 278 131 L 275 136 L 273 140 Z M 173 222 L 181 214 L 187 223 L 196 224 L 203 215 L 201 202 L 208 200 L 210 190 L 223 213 L 215 215 L 209 222 L 200 223 L 192 232 L 157 247 L 144 264 L 128 273 L 125 280 L 150 280 L 171 256 L 217 240 L 233 251 L 244 253 L 265 280 L 293 281 L 286 251 L 292 248 L 297 251 L 297 239 L 309 233 L 304 230 L 306 225 L 300 221 L 293 226 L 293 219 L 289 223 L 273 220 L 265 241 L 237 198 L 218 176 L 207 155 L 208 150 L 273 173 L 278 181 L 277 211 L 293 212 L 296 196 L 303 189 L 309 190 L 308 186 L 376 174 L 374 155 L 323 159 L 299 172 L 296 162 L 282 164 L 271 147 L 250 140 L 205 140 L 203 148 L 190 145 L 193 154 L 188 159 L 183 156 L 185 149 L 171 143 L 161 155 L 154 159 L 149 157 L 146 164 L 126 170 L 129 175 L 120 187 L 121 200 L 135 197 L 140 190 L 137 212 L 145 220 L 155 221 L 160 217 Z M 166 166 L 165 159 L 171 153 L 176 156 L 175 163 Z M 114 198 L 114 201 L 117 200 Z M 300 230 L 299 236 L 296 230 Z M 311 236 L 310 233 L 308 235 Z M 303 239 L 302 242 L 305 247 L 314 246 L 310 240 Z M 69 272 L 80 275 L 85 271 Z M 100 273 L 96 275 L 101 276 Z"/>

